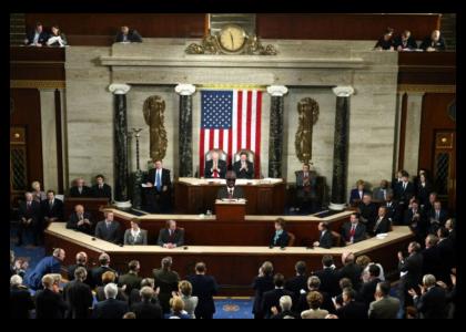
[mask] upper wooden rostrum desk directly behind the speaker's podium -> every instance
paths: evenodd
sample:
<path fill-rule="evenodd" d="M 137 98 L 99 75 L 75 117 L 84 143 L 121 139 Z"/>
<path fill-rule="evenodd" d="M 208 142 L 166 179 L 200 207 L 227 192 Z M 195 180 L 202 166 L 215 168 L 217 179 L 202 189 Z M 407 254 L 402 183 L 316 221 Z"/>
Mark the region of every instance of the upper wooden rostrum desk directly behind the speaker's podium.
<path fill-rule="evenodd" d="M 205 214 L 213 210 L 216 193 L 225 185 L 214 179 L 181 177 L 174 183 L 175 211 Z M 282 215 L 285 208 L 286 184 L 282 179 L 236 179 L 244 190 L 246 215 Z"/>

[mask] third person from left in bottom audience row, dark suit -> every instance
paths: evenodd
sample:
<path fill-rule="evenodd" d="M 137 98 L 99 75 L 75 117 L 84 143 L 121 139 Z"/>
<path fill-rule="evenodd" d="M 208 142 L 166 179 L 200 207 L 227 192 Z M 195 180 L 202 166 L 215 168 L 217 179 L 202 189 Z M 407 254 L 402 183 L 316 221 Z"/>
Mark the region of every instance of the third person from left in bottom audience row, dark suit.
<path fill-rule="evenodd" d="M 92 291 L 89 284 L 84 283 L 88 271 L 83 267 L 74 270 L 74 280 L 68 282 L 63 288 L 63 299 L 68 303 L 68 319 L 88 319 L 92 308 Z"/>

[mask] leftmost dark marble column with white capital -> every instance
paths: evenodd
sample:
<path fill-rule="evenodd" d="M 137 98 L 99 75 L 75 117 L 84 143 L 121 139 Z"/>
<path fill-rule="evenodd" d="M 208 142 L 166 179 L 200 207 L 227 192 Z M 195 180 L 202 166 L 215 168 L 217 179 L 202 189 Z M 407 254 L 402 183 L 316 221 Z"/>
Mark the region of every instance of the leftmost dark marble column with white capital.
<path fill-rule="evenodd" d="M 114 95 L 114 204 L 119 208 L 130 208 L 129 200 L 129 174 L 128 174 L 128 114 L 126 93 L 130 91 L 128 84 L 111 84 L 109 90 Z"/>

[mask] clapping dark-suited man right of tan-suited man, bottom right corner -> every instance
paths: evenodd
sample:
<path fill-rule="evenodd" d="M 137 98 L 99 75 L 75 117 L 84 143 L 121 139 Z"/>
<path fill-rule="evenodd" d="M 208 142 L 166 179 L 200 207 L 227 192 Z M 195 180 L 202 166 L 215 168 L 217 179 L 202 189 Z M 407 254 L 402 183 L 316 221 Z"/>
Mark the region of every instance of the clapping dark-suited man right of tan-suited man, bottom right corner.
<path fill-rule="evenodd" d="M 425 274 L 421 286 L 421 297 L 414 288 L 408 290 L 421 318 L 445 319 L 447 315 L 446 293 L 442 287 L 436 286 L 436 282 L 433 274 Z"/>

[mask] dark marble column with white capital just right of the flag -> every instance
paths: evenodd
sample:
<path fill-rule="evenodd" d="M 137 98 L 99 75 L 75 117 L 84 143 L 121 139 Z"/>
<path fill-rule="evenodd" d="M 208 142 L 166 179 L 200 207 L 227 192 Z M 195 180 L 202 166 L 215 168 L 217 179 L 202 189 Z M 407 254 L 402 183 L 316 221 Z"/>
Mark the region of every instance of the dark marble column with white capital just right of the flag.
<path fill-rule="evenodd" d="M 271 94 L 271 122 L 269 134 L 269 177 L 282 177 L 283 160 L 283 96 L 288 92 L 284 85 L 267 86 Z"/>

